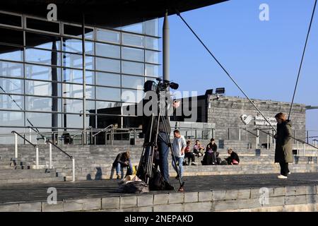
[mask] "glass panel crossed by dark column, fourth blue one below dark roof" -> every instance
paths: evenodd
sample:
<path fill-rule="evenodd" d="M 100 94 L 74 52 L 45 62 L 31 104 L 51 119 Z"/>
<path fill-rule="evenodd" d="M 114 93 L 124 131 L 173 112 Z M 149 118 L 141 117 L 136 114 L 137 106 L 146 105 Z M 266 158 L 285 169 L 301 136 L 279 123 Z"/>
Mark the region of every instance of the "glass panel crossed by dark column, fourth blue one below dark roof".
<path fill-rule="evenodd" d="M 52 102 L 54 102 L 54 106 Z M 25 109 L 29 111 L 61 112 L 61 99 L 57 97 L 25 97 Z"/>

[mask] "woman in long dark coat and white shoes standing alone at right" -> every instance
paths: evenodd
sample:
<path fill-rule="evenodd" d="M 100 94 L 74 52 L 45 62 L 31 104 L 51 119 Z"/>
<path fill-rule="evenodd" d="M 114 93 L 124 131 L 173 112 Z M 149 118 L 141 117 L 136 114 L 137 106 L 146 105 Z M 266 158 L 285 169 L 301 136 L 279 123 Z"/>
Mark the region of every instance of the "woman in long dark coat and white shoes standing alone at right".
<path fill-rule="evenodd" d="M 281 175 L 278 179 L 287 179 L 290 171 L 288 163 L 293 162 L 293 143 L 291 139 L 292 126 L 290 120 L 286 119 L 286 114 L 278 113 L 275 116 L 277 121 L 277 133 L 275 148 L 275 162 L 281 166 Z"/>

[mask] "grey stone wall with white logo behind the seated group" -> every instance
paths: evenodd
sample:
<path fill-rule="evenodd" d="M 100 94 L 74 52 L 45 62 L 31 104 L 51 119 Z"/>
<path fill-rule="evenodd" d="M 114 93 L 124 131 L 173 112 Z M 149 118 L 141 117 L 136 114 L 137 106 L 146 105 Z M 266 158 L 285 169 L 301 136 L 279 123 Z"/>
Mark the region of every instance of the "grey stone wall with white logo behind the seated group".
<path fill-rule="evenodd" d="M 271 129 L 270 126 L 256 126 L 255 120 L 245 125 L 241 117 L 243 114 L 247 116 L 257 117 L 261 116 L 257 109 L 244 98 L 240 97 L 220 97 L 219 100 L 212 100 L 214 97 L 210 97 L 211 107 L 208 108 L 207 122 L 216 124 L 215 138 L 225 139 L 228 138 L 228 128 L 230 129 L 230 139 L 237 140 L 239 138 L 239 129 L 237 127 L 247 127 L 249 131 L 254 129 Z M 278 112 L 288 114 L 290 109 L 290 103 L 287 102 L 276 102 L 272 100 L 252 100 L 259 110 L 264 114 L 265 117 L 275 117 Z M 293 131 L 296 136 L 302 140 L 305 140 L 305 105 L 295 104 L 293 107 L 293 113 L 291 115 L 291 121 L 293 124 Z M 236 127 L 236 129 L 234 128 Z M 274 126 L 276 128 L 276 126 Z M 266 143 L 267 135 L 259 132 L 260 143 Z M 294 134 L 293 134 L 294 135 Z M 241 130 L 241 138 L 243 140 L 248 139 L 256 143 L 256 138 L 249 133 Z"/>

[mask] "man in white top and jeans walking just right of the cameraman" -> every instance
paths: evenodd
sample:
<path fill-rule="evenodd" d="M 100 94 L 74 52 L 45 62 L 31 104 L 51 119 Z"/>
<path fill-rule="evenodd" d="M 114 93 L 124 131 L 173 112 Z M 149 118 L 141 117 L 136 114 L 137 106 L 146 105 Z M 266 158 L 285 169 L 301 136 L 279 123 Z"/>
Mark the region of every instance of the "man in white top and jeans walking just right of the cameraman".
<path fill-rule="evenodd" d="M 184 159 L 184 150 L 187 147 L 187 141 L 185 140 L 184 136 L 180 134 L 179 130 L 173 131 L 173 135 L 175 136 L 175 139 L 173 140 L 173 155 L 175 156 L 175 161 L 177 162 L 177 165 L 179 166 L 179 174 L 180 177 L 183 176 L 183 159 Z M 175 164 L 175 161 L 173 160 L 172 156 L 172 167 L 177 172 L 177 166 Z M 179 179 L 177 176 L 176 179 Z"/>

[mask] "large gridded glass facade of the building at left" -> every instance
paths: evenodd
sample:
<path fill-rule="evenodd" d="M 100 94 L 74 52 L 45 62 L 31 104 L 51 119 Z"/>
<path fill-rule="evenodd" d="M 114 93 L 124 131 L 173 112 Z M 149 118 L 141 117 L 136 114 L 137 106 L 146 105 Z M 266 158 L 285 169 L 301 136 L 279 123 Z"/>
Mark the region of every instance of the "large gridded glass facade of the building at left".
<path fill-rule="evenodd" d="M 83 129 L 81 25 L 1 13 L 0 133 Z M 86 125 L 131 126 L 122 107 L 160 76 L 158 19 L 123 28 L 86 25 Z M 131 118 L 129 122 L 129 118 Z M 29 122 L 30 121 L 30 122 Z M 42 129 L 42 130 L 41 130 Z"/>

